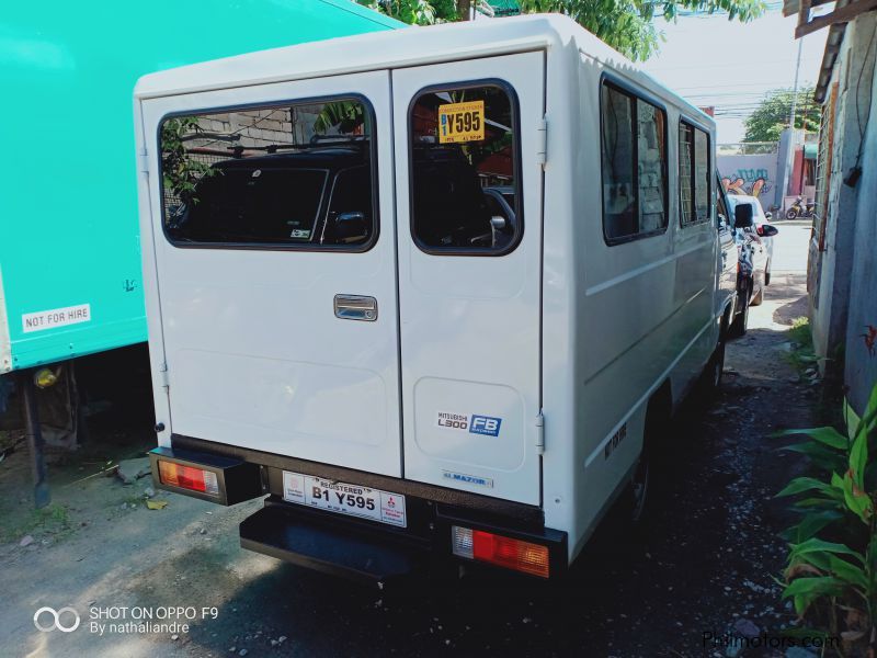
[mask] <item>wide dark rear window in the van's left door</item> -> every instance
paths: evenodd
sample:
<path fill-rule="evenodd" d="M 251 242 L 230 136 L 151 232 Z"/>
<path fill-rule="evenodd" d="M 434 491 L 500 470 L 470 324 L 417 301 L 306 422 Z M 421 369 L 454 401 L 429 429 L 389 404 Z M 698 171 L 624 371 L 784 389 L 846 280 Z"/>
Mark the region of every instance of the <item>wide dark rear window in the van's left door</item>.
<path fill-rule="evenodd" d="M 164 232 L 178 247 L 367 249 L 372 134 L 361 98 L 166 118 Z"/>

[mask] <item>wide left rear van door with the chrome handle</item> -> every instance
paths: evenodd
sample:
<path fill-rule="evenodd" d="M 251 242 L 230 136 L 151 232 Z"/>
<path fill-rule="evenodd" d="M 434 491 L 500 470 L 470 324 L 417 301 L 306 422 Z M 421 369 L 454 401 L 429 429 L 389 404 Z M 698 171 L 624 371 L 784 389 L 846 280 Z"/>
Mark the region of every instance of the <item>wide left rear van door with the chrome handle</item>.
<path fill-rule="evenodd" d="M 401 476 L 389 90 L 144 102 L 174 433 Z"/>

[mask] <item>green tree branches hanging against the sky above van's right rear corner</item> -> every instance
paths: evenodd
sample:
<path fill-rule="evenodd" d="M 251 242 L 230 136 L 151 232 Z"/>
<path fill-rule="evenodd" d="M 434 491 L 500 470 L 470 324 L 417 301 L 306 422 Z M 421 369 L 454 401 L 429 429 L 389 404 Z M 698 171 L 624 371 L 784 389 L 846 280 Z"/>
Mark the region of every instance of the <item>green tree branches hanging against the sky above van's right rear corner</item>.
<path fill-rule="evenodd" d="M 630 59 L 648 59 L 663 38 L 654 19 L 675 21 L 683 10 L 725 12 L 728 20 L 743 23 L 764 10 L 762 0 L 522 0 L 526 11 L 560 12 L 569 15 Z"/>

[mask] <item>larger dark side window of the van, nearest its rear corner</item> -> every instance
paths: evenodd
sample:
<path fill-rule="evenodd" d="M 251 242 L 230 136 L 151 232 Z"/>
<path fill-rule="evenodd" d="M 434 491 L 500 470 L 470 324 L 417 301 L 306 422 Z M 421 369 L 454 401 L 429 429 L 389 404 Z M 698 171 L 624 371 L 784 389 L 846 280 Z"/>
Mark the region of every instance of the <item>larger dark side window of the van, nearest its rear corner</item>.
<path fill-rule="evenodd" d="M 667 114 L 603 83 L 603 231 L 610 243 L 667 229 Z"/>

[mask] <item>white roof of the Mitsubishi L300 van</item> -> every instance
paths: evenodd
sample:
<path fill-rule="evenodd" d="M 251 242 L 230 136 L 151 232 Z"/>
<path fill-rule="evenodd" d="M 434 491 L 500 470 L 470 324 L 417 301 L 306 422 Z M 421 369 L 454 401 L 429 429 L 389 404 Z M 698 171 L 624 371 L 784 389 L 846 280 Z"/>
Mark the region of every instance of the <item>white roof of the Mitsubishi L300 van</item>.
<path fill-rule="evenodd" d="M 667 95 L 661 91 L 669 88 L 571 19 L 528 14 L 344 36 L 215 59 L 144 76 L 135 97 L 178 95 L 561 47 L 576 48 L 653 93 Z M 669 91 L 687 114 L 713 125 L 711 117 Z"/>

